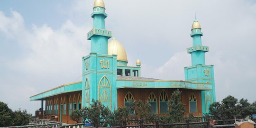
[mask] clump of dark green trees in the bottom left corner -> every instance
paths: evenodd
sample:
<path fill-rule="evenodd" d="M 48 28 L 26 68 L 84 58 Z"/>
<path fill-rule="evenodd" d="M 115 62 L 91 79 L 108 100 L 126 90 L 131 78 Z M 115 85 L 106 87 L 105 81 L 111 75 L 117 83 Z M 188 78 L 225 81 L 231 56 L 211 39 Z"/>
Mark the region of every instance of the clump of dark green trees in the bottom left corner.
<path fill-rule="evenodd" d="M 12 111 L 6 103 L 0 101 L 0 127 L 28 125 L 30 117 L 27 110 Z"/>

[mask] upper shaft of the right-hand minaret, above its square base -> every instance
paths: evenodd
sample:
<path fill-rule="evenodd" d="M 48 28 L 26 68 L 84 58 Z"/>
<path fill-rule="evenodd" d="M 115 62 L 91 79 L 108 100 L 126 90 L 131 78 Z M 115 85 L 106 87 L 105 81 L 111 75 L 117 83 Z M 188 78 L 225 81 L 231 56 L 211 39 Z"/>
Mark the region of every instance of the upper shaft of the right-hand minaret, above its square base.
<path fill-rule="evenodd" d="M 187 53 L 191 54 L 192 65 L 205 64 L 204 53 L 209 51 L 209 47 L 202 46 L 201 36 L 203 36 L 203 34 L 201 32 L 201 26 L 196 17 L 191 31 L 192 33 L 190 36 L 193 38 L 193 46 L 187 48 Z"/>

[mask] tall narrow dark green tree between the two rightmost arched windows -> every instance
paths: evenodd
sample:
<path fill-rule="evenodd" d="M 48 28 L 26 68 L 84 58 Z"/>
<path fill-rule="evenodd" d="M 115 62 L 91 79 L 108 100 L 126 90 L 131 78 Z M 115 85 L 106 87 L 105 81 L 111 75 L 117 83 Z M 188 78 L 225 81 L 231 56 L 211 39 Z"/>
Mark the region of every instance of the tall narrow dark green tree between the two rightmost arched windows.
<path fill-rule="evenodd" d="M 185 105 L 181 101 L 181 91 L 176 90 L 168 101 L 168 106 L 171 110 L 168 111 L 170 123 L 179 123 L 183 120 L 186 113 Z"/>

